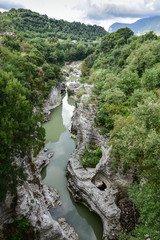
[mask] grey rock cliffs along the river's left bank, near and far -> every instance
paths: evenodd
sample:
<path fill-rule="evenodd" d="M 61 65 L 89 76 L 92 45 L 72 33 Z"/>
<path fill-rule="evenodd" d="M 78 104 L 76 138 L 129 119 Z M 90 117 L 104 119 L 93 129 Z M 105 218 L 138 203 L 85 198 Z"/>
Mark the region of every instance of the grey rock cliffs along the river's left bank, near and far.
<path fill-rule="evenodd" d="M 50 109 L 61 104 L 62 89 L 64 88 L 60 86 L 52 89 L 44 106 L 47 116 Z M 49 163 L 43 150 L 36 159 L 26 157 L 15 161 L 18 166 L 23 165 L 27 179 L 17 188 L 16 196 L 8 193 L 5 202 L 0 205 L 0 239 L 9 239 L 9 224 L 22 218 L 29 219 L 33 240 L 77 239 L 74 229 L 64 219 L 57 222 L 49 212 L 50 206 L 56 206 L 59 194 L 55 189 L 42 184 L 40 171 Z"/>

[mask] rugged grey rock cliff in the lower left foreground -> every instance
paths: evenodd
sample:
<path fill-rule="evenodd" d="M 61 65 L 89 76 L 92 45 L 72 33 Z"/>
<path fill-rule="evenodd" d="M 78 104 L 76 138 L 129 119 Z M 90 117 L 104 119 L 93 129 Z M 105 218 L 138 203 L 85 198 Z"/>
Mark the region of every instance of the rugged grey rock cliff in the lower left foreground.
<path fill-rule="evenodd" d="M 5 239 L 3 236 L 4 226 L 7 228 L 7 224 L 23 217 L 30 221 L 34 232 L 33 239 L 67 239 L 58 222 L 53 220 L 49 213 L 49 206 L 58 201 L 59 195 L 56 190 L 43 185 L 41 182 L 36 162 L 41 166 L 44 161 L 43 158 L 23 159 L 27 180 L 17 188 L 16 197 L 8 194 L 6 201 L 0 206 L 1 239 Z M 48 160 L 46 159 L 46 161 Z M 16 162 L 19 165 L 22 160 L 16 159 Z"/>

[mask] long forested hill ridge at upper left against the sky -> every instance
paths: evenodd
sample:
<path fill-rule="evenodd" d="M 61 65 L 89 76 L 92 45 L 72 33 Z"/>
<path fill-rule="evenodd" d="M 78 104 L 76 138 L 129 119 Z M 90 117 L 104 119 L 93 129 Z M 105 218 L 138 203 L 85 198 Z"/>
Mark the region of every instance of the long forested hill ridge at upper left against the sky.
<path fill-rule="evenodd" d="M 48 18 L 26 9 L 11 9 L 0 13 L 0 32 L 22 32 L 26 37 L 58 37 L 61 39 L 96 40 L 106 35 L 97 25 L 67 22 Z"/>

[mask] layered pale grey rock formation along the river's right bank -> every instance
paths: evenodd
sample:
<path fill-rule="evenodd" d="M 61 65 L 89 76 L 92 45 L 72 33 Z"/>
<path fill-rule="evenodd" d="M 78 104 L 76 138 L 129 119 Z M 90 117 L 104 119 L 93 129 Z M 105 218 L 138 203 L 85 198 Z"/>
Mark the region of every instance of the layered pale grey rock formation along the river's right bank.
<path fill-rule="evenodd" d="M 130 231 L 135 226 L 134 206 L 126 193 L 132 177 L 131 174 L 123 176 L 120 171 L 115 173 L 110 166 L 111 147 L 107 146 L 107 139 L 99 134 L 94 123 L 96 104 L 87 101 L 92 87 L 77 82 L 68 85 L 68 91 L 74 98 L 79 91 L 84 91 L 72 118 L 71 136 L 76 138 L 77 148 L 67 164 L 68 189 L 75 201 L 82 202 L 100 216 L 103 239 L 115 240 L 122 229 Z M 82 154 L 86 146 L 92 144 L 101 147 L 102 157 L 96 168 L 84 168 Z"/>

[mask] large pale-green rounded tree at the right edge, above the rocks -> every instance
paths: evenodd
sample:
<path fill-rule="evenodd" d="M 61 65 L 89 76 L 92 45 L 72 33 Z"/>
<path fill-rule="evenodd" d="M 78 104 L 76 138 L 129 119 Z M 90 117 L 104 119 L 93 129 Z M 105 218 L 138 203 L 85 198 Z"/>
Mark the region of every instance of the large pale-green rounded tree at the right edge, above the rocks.
<path fill-rule="evenodd" d="M 139 179 L 160 184 L 160 102 L 148 99 L 131 115 L 115 122 L 111 133 L 112 155 L 124 170 L 136 169 Z"/>

